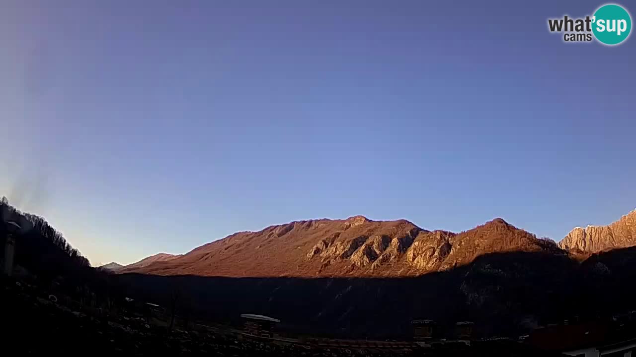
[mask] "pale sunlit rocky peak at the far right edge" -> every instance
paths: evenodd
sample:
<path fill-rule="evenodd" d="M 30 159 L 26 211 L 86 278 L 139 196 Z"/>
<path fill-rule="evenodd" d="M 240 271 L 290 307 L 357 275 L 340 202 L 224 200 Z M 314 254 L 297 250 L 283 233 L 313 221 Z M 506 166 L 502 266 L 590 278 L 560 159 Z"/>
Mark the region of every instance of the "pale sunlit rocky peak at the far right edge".
<path fill-rule="evenodd" d="M 576 227 L 559 246 L 572 253 L 597 253 L 636 245 L 636 210 L 609 226 Z"/>

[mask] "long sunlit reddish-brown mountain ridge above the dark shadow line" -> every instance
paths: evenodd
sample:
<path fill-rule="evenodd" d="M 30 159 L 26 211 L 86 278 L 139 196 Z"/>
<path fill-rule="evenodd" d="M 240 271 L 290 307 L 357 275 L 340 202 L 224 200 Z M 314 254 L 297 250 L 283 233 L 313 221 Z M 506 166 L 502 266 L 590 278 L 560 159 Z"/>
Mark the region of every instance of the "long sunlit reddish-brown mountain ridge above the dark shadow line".
<path fill-rule="evenodd" d="M 455 234 L 408 220 L 305 220 L 239 232 L 163 262 L 120 272 L 228 277 L 417 276 L 492 252 L 558 250 L 502 219 Z"/>

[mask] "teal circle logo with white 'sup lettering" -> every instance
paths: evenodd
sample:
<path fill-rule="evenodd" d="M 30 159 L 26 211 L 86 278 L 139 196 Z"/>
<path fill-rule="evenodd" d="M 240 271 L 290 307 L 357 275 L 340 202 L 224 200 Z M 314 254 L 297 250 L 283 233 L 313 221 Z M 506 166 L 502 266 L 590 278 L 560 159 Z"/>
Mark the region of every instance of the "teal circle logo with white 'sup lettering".
<path fill-rule="evenodd" d="M 603 5 L 594 13 L 592 32 L 598 41 L 604 44 L 619 44 L 632 30 L 632 17 L 622 6 Z"/>

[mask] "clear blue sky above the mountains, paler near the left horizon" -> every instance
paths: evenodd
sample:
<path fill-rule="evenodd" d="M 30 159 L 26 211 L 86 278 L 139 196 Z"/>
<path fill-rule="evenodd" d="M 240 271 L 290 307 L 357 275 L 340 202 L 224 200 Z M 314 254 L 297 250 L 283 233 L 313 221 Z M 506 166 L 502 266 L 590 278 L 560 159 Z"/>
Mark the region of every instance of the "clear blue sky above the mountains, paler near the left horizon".
<path fill-rule="evenodd" d="M 0 196 L 93 266 L 353 215 L 558 241 L 636 207 L 636 38 L 548 32 L 601 4 L 4 0 Z"/>

